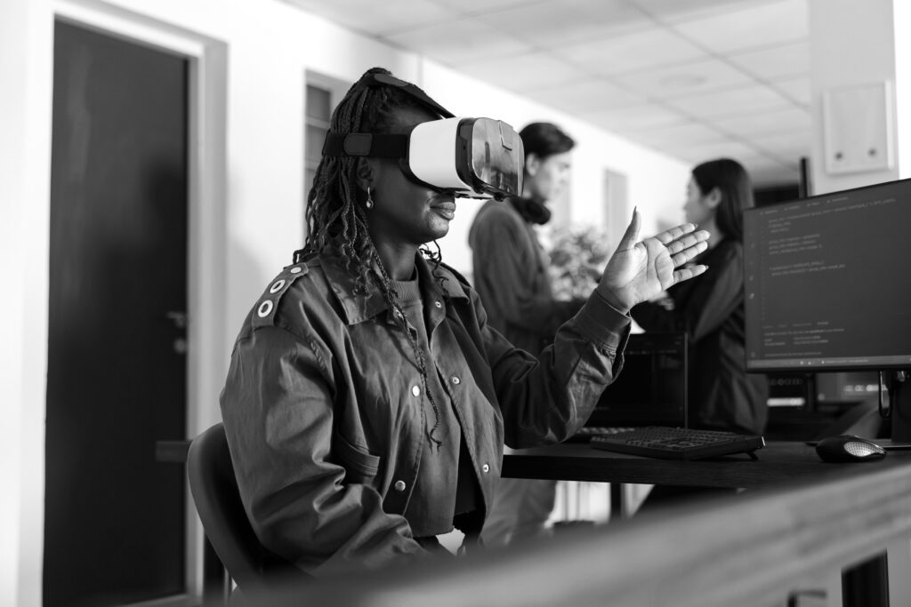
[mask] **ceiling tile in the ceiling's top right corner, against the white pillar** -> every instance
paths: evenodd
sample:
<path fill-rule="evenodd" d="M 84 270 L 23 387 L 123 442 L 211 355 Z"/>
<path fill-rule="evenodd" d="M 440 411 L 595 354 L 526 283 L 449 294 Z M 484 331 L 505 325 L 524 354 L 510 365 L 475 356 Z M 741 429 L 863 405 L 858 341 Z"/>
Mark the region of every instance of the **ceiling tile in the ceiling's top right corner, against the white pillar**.
<path fill-rule="evenodd" d="M 806 0 L 751 5 L 672 27 L 693 42 L 720 54 L 804 40 L 809 33 Z"/>

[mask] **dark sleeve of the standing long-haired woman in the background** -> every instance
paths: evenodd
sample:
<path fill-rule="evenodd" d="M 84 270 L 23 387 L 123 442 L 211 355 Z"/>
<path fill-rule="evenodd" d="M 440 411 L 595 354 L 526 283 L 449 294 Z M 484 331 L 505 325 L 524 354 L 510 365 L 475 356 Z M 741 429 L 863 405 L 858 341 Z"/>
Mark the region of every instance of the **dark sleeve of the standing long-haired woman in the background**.
<path fill-rule="evenodd" d="M 647 331 L 685 330 L 693 342 L 697 342 L 719 329 L 732 315 L 743 298 L 743 271 L 741 256 L 737 249 L 731 249 L 722 263 L 712 264 L 700 277 L 693 278 L 690 295 L 681 305 L 674 299 L 675 308 L 646 302 L 630 312 L 632 318 Z"/>

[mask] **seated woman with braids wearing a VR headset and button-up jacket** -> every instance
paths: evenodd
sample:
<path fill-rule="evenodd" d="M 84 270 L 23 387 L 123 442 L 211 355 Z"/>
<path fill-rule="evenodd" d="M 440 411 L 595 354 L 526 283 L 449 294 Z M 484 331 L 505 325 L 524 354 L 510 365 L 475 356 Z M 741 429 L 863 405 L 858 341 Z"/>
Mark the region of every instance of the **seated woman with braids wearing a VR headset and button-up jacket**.
<path fill-rule="evenodd" d="M 313 575 L 448 553 L 436 536 L 454 525 L 476 538 L 504 441 L 576 431 L 619 371 L 629 310 L 704 271 L 678 267 L 707 234 L 685 225 L 638 241 L 634 214 L 553 345 L 537 358 L 516 349 L 424 246 L 445 236 L 456 192 L 520 191 L 521 144 L 504 123 L 449 116 L 382 68 L 352 86 L 308 197 L 305 246 L 231 354 L 220 407 L 241 500 L 261 543 Z"/>

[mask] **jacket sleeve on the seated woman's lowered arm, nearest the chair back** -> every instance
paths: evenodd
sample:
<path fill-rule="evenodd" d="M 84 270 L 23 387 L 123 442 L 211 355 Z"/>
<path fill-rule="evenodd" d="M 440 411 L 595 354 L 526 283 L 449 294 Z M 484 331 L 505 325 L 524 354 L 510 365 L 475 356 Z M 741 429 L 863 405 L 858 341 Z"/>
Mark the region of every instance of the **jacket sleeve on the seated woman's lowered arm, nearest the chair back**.
<path fill-rule="evenodd" d="M 253 529 L 316 575 L 425 554 L 404 517 L 383 511 L 378 491 L 346 476 L 343 458 L 359 458 L 365 474 L 379 458 L 333 435 L 337 387 L 325 351 L 318 338 L 278 327 L 252 330 L 235 346 L 220 405 Z"/>

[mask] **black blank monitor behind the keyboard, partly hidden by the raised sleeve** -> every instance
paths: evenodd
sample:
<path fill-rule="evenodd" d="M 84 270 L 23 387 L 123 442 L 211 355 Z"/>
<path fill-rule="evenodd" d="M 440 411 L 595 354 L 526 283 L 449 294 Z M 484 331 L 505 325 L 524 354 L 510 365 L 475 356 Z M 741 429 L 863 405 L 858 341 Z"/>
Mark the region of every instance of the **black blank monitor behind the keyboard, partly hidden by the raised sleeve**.
<path fill-rule="evenodd" d="M 588 427 L 687 426 L 685 333 L 635 333 L 623 369 L 601 394 Z"/>

